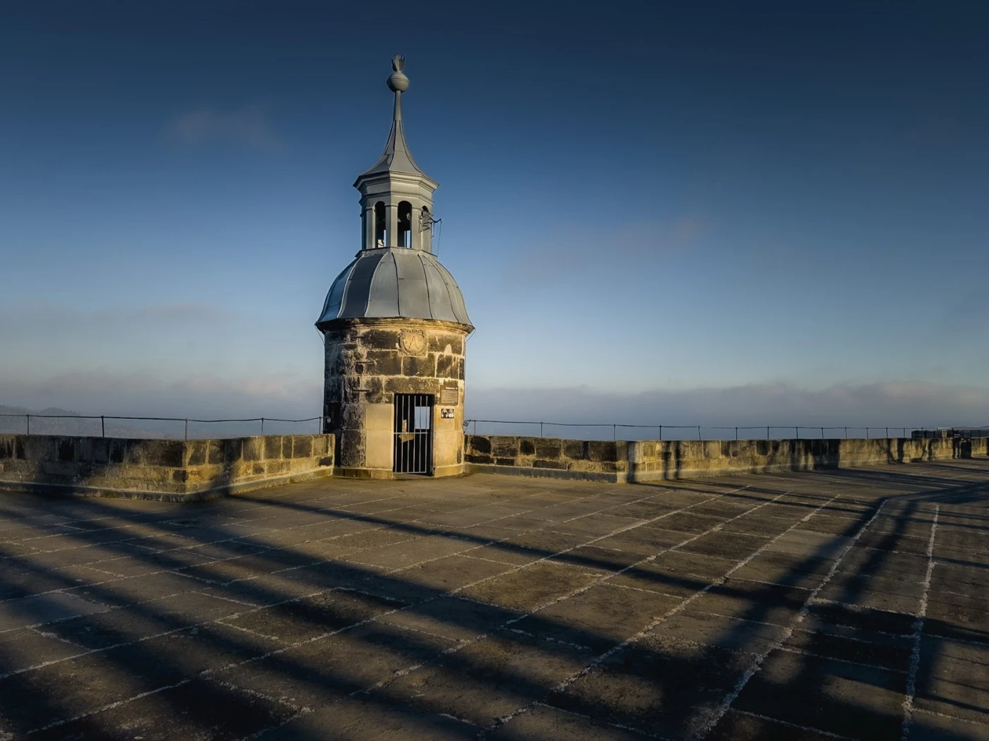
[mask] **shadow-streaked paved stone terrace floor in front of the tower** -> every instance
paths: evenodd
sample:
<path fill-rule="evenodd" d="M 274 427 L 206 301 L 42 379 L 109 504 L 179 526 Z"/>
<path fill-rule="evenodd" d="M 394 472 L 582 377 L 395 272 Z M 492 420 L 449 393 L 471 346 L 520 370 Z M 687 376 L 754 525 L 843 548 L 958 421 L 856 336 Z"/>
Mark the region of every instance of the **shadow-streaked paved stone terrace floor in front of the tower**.
<path fill-rule="evenodd" d="M 989 461 L 0 499 L 30 739 L 989 739 Z"/>

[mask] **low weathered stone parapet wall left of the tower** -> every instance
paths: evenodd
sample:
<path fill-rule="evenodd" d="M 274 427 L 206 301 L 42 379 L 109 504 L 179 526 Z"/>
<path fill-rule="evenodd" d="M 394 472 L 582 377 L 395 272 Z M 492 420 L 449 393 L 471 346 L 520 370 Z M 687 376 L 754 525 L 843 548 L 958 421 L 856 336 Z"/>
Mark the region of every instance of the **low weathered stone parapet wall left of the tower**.
<path fill-rule="evenodd" d="M 0 489 L 187 501 L 333 473 L 332 435 L 131 440 L 0 435 Z"/>

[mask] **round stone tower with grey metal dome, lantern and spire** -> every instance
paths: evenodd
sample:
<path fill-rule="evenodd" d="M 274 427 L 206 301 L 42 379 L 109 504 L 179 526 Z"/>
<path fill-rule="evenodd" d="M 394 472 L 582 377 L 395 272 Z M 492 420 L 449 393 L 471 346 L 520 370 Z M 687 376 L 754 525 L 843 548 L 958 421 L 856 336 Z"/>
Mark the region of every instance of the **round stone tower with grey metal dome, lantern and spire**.
<path fill-rule="evenodd" d="M 385 151 L 357 176 L 361 249 L 333 281 L 316 328 L 325 345 L 323 432 L 339 475 L 464 471 L 464 355 L 474 327 L 433 255 L 439 184 L 405 142 L 405 57 L 392 59 L 395 115 Z"/>

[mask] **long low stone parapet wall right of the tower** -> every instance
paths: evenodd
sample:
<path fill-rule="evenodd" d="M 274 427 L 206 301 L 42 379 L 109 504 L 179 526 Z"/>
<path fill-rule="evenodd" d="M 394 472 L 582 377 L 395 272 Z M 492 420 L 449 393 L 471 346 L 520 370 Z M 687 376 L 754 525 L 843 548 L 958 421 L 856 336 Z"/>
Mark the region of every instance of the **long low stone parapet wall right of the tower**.
<path fill-rule="evenodd" d="M 844 468 L 989 454 L 989 438 L 581 441 L 468 435 L 470 471 L 600 481 L 653 481 Z"/>

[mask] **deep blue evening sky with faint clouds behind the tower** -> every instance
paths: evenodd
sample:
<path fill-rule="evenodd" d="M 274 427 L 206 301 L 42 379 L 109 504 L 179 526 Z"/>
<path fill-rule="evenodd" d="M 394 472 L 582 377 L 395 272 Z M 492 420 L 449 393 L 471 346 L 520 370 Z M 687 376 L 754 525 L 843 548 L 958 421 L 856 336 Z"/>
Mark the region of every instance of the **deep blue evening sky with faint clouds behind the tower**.
<path fill-rule="evenodd" d="M 470 416 L 989 423 L 985 6 L 365 5 L 0 11 L 0 403 L 317 413 L 399 51 Z"/>

